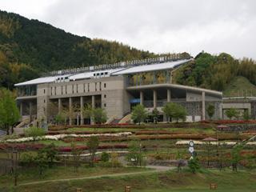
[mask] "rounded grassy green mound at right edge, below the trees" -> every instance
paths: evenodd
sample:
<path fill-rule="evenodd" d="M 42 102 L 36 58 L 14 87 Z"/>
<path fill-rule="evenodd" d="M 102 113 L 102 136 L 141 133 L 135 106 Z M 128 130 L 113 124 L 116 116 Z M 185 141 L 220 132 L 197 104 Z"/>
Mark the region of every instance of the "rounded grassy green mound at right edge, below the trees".
<path fill-rule="evenodd" d="M 256 94 L 256 86 L 254 86 L 247 78 L 238 76 L 230 82 L 229 86 L 223 91 L 225 97 L 231 96 L 251 96 Z"/>

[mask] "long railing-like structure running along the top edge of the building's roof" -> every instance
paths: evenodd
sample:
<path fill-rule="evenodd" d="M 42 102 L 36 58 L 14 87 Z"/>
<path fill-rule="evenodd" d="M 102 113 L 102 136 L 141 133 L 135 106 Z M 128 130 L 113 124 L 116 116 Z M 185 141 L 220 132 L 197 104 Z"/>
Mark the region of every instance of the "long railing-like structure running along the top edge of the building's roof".
<path fill-rule="evenodd" d="M 49 76 L 49 75 L 63 75 L 63 74 L 78 74 L 83 72 L 91 72 L 95 70 L 110 70 L 122 67 L 129 67 L 129 66 L 142 66 L 142 65 L 150 65 L 155 63 L 162 63 L 162 62 L 174 62 L 181 59 L 190 59 L 189 55 L 184 54 L 171 54 L 170 56 L 164 56 L 159 58 L 146 58 L 140 60 L 132 60 L 127 62 L 116 62 L 113 64 L 103 64 L 98 66 L 85 66 L 80 68 L 74 68 L 69 70 L 54 70 L 50 73 L 42 74 L 42 76 Z"/>

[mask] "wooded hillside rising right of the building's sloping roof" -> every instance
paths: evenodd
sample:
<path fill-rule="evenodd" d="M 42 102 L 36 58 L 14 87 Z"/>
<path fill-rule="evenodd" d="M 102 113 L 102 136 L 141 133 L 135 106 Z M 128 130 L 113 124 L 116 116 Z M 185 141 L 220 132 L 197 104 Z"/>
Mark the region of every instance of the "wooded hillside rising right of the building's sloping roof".
<path fill-rule="evenodd" d="M 198 54 L 193 62 L 182 66 L 174 74 L 175 82 L 188 86 L 198 86 L 211 90 L 230 89 L 230 83 L 237 76 L 247 78 L 256 85 L 256 62 L 249 58 L 238 60 L 230 54 Z M 242 85 L 242 84 L 241 84 Z M 236 87 L 238 90 L 246 87 Z M 256 94 L 256 93 L 255 93 Z"/>

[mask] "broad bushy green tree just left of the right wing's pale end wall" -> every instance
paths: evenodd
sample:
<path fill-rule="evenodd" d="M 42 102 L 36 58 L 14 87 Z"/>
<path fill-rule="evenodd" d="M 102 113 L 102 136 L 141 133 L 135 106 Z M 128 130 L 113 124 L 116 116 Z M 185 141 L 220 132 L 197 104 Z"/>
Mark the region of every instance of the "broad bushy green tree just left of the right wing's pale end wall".
<path fill-rule="evenodd" d="M 177 122 L 178 119 L 186 120 L 186 109 L 178 103 L 168 102 L 162 110 L 167 118 L 176 118 Z"/>

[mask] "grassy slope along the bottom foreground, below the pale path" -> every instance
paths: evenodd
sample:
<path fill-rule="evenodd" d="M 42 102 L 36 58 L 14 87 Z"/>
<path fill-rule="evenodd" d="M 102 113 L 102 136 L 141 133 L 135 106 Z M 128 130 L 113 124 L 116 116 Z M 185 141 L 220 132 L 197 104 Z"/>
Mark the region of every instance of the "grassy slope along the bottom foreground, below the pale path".
<path fill-rule="evenodd" d="M 76 180 L 70 182 L 52 182 L 40 185 L 18 186 L 14 191 L 75 191 L 81 187 L 85 191 L 124 191 L 124 186 L 131 186 L 133 192 L 166 192 L 166 191 L 211 191 L 209 184 L 218 183 L 218 190 L 214 191 L 255 191 L 256 174 L 240 171 L 233 174 L 230 170 L 223 172 L 206 170 L 201 174 L 188 172 L 176 173 L 170 171 L 162 174 L 142 174 L 118 178 L 97 178 Z"/>

